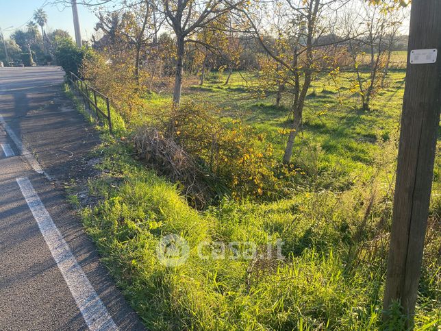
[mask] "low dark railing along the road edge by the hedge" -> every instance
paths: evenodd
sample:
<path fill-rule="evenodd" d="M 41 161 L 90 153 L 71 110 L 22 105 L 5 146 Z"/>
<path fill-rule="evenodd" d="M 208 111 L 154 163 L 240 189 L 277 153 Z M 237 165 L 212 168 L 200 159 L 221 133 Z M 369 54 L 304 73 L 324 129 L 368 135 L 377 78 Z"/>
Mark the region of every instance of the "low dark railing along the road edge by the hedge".
<path fill-rule="evenodd" d="M 108 121 L 109 132 L 112 134 L 112 118 L 110 117 L 109 98 L 103 95 L 103 93 L 99 92 L 98 90 L 95 90 L 95 88 L 88 86 L 88 84 L 84 82 L 84 80 L 82 80 L 81 78 L 77 77 L 75 73 L 70 72 L 67 79 L 71 83 L 71 86 L 75 88 L 75 90 L 77 90 L 78 93 L 81 95 L 84 104 L 87 105 L 89 110 L 92 111 L 92 107 L 95 108 L 97 121 L 99 122 L 101 118 L 104 118 Z M 105 103 L 105 111 L 99 108 L 97 96 L 100 97 Z"/>

